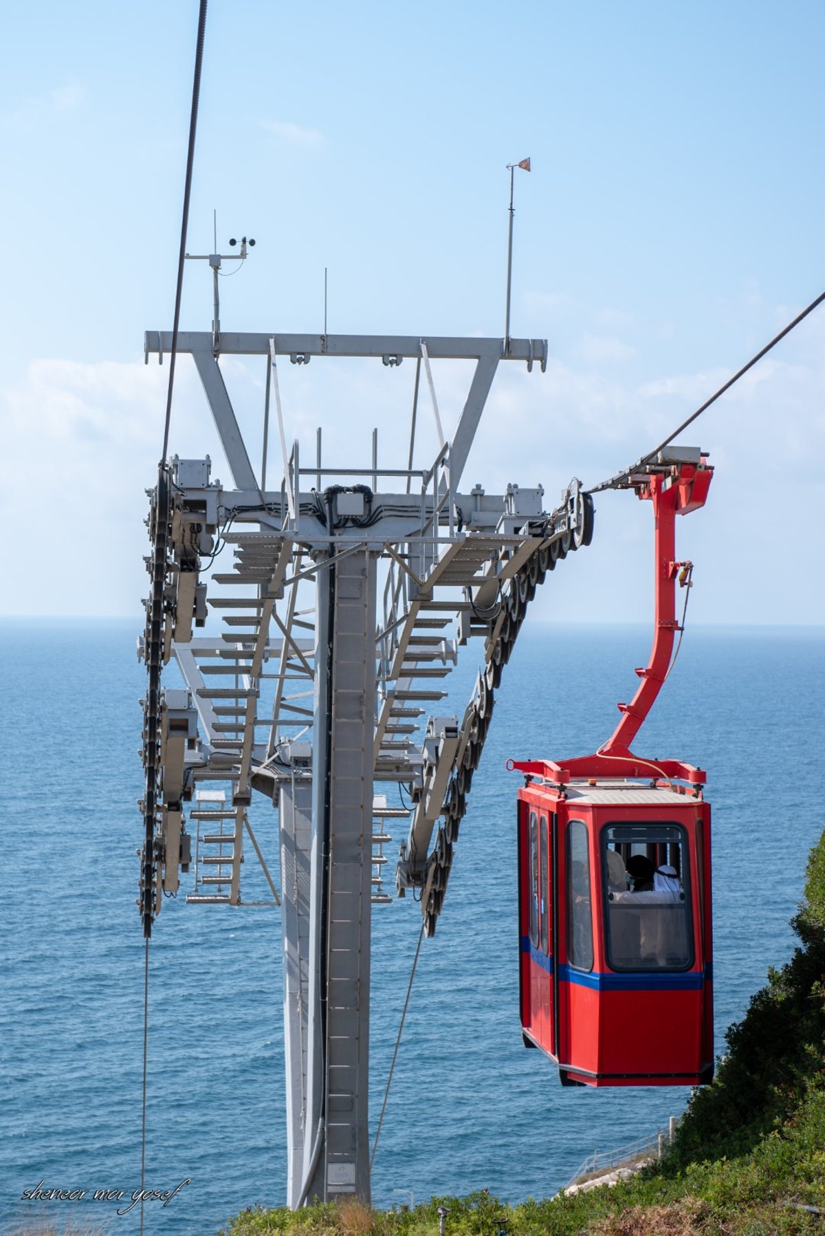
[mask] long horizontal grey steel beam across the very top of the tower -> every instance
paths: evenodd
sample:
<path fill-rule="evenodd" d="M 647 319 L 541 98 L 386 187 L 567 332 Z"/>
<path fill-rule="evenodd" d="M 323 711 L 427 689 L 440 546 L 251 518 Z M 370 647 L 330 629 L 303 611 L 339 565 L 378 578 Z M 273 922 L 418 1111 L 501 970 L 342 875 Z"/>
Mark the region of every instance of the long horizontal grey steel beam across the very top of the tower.
<path fill-rule="evenodd" d="M 408 357 L 421 356 L 421 335 L 272 335 L 261 331 L 232 332 L 221 331 L 221 352 L 233 356 L 269 356 L 269 344 L 273 341 L 275 356 L 363 356 L 363 357 Z M 547 362 L 546 339 L 511 339 L 510 350 L 505 353 L 503 340 L 462 339 L 459 336 L 424 337 L 430 360 L 473 361 L 482 356 L 495 356 L 504 361 Z M 147 330 L 144 351 L 149 353 L 172 351 L 170 330 Z M 182 330 L 178 335 L 179 352 L 198 352 L 212 357 L 212 336 L 210 331 Z"/>

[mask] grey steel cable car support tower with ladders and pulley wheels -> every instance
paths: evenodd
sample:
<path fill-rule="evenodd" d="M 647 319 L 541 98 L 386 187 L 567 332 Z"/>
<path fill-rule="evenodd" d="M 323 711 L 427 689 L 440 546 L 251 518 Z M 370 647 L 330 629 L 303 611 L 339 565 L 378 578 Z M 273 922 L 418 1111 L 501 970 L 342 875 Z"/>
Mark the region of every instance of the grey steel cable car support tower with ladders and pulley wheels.
<path fill-rule="evenodd" d="M 170 332 L 149 331 L 147 361 L 170 346 Z M 143 886 L 154 915 L 180 871 L 191 878 L 188 902 L 249 904 L 241 876 L 252 847 L 283 927 L 288 1201 L 368 1203 L 371 913 L 393 900 L 387 828 L 404 817 L 395 891 L 421 890 L 431 936 L 513 643 L 547 572 L 589 543 L 593 507 L 578 482 L 551 512 L 541 487 L 461 488 L 499 361 L 543 371 L 543 340 L 511 339 L 505 351 L 501 339 L 216 328 L 182 332 L 178 351 L 194 360 L 233 488 L 211 478 L 207 457 L 175 457 L 152 492 L 149 529 L 162 520 L 167 530 L 162 655 L 174 658 L 185 686 L 144 701 L 157 811 Z M 251 464 L 221 355 L 269 358 L 264 440 L 272 393 L 283 462 L 274 488 Z M 298 441 L 288 451 L 278 366 L 327 357 L 412 363 L 400 466 L 379 467 L 377 434 L 356 468 L 322 459 L 321 430 L 310 466 Z M 436 358 L 475 363 L 451 440 Z M 414 467 L 425 388 L 440 446 Z M 232 546 L 231 570 L 211 567 L 221 546 Z M 210 609 L 221 629 L 195 634 Z M 458 648 L 477 637 L 484 666 L 464 713 L 430 714 Z M 151 751 L 147 734 L 158 735 Z M 388 807 L 387 782 L 408 787 L 409 811 Z M 266 823 L 256 823 L 261 839 L 252 829 L 253 790 L 279 811 L 280 891 L 264 857 L 273 837 Z"/>

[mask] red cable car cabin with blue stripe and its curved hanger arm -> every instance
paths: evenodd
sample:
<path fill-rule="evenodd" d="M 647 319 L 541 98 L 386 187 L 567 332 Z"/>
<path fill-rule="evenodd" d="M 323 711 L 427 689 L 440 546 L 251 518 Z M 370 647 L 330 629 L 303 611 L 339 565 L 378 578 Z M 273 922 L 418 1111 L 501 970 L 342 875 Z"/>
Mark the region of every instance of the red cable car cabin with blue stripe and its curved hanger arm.
<path fill-rule="evenodd" d="M 508 763 L 526 774 L 517 795 L 524 1041 L 557 1062 L 566 1085 L 713 1078 L 705 774 L 630 750 L 672 664 L 677 577 L 689 586 L 692 564 L 674 561 L 674 517 L 703 506 L 711 475 L 698 451 L 679 450 L 631 482 L 656 515 L 657 623 L 613 738 L 562 764 Z"/>

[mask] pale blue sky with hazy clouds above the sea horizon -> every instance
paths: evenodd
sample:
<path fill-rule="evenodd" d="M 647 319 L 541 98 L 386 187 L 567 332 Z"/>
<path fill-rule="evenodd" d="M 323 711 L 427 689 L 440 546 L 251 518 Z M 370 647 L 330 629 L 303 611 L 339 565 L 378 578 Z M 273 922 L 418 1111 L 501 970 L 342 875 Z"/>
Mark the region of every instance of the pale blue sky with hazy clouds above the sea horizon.
<path fill-rule="evenodd" d="M 140 627 L 168 373 L 143 365 L 143 331 L 172 326 L 196 21 L 196 0 L 4 17 L 6 616 Z M 320 332 L 327 267 L 331 332 L 498 336 L 506 164 L 530 156 L 513 334 L 551 360 L 499 367 L 464 487 L 541 483 L 550 509 L 571 477 L 656 445 L 824 290 L 824 37 L 805 0 L 211 0 L 188 248 L 211 251 L 214 211 L 222 252 L 256 237 L 225 267 L 225 330 Z M 206 263 L 188 263 L 182 325 L 210 324 Z M 677 528 L 695 622 L 823 622 L 824 345 L 825 308 L 681 439 L 716 468 Z M 433 371 L 447 424 L 468 382 L 453 368 Z M 287 371 L 304 452 L 321 424 L 325 454 L 367 460 L 377 426 L 382 461 L 404 465 L 412 363 Z M 225 372 L 256 457 L 264 362 Z M 170 449 L 210 452 L 230 482 L 188 361 Z M 535 604 L 650 620 L 648 504 L 600 494 L 592 546 Z"/>

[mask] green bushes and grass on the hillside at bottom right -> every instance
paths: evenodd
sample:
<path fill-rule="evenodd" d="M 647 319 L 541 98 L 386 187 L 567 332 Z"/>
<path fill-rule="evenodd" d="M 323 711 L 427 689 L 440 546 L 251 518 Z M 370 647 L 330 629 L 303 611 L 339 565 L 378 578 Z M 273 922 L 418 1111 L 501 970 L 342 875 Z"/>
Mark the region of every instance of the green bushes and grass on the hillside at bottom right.
<path fill-rule="evenodd" d="M 506 1206 L 487 1193 L 412 1210 L 357 1201 L 242 1211 L 222 1236 L 797 1236 L 825 1232 L 825 834 L 792 959 L 768 973 L 666 1159 L 615 1188 Z"/>

